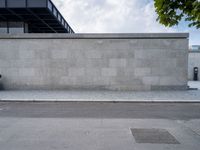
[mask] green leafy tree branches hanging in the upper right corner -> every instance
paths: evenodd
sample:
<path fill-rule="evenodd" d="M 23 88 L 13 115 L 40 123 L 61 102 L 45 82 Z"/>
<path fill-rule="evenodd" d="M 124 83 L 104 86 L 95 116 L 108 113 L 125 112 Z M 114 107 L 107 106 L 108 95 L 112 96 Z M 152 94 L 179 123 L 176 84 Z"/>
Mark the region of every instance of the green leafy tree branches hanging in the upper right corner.
<path fill-rule="evenodd" d="M 154 0 L 157 21 L 172 27 L 184 19 L 189 27 L 200 28 L 200 0 Z"/>

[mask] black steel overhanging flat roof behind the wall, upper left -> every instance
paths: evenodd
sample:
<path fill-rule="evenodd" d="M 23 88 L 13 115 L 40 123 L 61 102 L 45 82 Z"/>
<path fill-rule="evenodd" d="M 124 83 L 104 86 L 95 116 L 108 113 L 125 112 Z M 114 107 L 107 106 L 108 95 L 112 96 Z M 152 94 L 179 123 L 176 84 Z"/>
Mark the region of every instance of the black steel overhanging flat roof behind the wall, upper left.
<path fill-rule="evenodd" d="M 29 33 L 74 33 L 51 0 L 0 0 L 0 21 L 22 21 Z"/>

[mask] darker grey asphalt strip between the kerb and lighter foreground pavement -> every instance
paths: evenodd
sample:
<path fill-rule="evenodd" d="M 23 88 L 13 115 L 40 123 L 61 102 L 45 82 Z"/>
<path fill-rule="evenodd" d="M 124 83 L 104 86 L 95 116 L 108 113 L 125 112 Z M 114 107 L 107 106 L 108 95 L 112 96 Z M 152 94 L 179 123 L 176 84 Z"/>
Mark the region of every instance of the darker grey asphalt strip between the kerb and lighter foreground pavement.
<path fill-rule="evenodd" d="M 200 119 L 200 103 L 0 102 L 0 117 Z"/>

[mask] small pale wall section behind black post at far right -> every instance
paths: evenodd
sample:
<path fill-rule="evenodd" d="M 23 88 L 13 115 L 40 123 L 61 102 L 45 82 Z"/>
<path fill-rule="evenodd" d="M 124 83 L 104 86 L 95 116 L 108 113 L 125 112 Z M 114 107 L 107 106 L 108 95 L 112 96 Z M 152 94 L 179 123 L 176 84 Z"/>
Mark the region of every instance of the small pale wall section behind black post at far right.
<path fill-rule="evenodd" d="M 189 52 L 189 63 L 188 63 L 188 78 L 193 80 L 193 69 L 194 67 L 199 68 L 199 79 L 200 79 L 200 51 Z"/>

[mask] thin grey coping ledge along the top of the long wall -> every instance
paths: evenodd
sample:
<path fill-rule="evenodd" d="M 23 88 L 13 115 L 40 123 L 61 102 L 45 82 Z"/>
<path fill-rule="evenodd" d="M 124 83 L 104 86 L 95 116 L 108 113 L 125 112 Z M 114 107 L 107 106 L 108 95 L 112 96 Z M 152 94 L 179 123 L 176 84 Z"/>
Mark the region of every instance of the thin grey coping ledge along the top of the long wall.
<path fill-rule="evenodd" d="M 187 39 L 189 33 L 27 33 L 0 34 L 0 39 Z"/>

